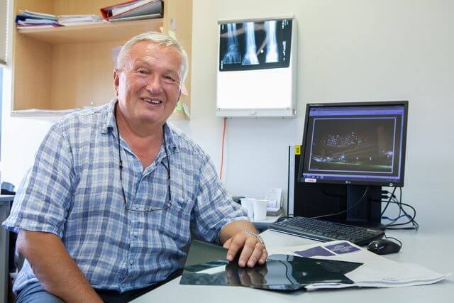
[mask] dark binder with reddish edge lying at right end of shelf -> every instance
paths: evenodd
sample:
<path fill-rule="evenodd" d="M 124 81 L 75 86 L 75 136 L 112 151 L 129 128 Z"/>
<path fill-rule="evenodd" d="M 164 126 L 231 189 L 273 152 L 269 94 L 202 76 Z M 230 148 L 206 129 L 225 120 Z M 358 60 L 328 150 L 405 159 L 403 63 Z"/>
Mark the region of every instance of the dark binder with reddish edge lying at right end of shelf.
<path fill-rule="evenodd" d="M 102 18 L 107 21 L 128 21 L 163 16 L 162 0 L 133 0 L 106 6 L 101 9 Z"/>

